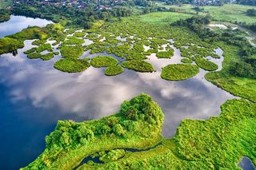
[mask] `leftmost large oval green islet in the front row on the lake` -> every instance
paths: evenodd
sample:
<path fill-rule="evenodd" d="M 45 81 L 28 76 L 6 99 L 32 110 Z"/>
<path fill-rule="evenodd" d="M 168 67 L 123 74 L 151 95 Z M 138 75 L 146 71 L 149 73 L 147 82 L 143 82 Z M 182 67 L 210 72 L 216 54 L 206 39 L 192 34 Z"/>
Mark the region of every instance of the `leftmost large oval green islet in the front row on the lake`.
<path fill-rule="evenodd" d="M 90 63 L 84 59 L 66 58 L 61 59 L 54 64 L 54 68 L 67 73 L 78 73 L 90 67 Z"/>

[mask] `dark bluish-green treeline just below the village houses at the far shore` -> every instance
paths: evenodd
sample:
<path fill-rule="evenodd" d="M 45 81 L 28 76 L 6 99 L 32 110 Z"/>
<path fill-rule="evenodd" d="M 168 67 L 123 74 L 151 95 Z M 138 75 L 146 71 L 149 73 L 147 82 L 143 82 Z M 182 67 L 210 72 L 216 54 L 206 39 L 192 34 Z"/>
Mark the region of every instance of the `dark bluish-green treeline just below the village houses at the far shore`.
<path fill-rule="evenodd" d="M 53 22 L 66 21 L 67 25 L 82 26 L 87 29 L 98 19 L 109 20 L 112 17 L 130 16 L 132 9 L 126 6 L 115 6 L 112 9 L 98 10 L 97 6 L 89 6 L 79 10 L 72 6 L 28 6 L 22 3 L 15 4 L 12 13 L 31 18 L 46 18 Z"/>

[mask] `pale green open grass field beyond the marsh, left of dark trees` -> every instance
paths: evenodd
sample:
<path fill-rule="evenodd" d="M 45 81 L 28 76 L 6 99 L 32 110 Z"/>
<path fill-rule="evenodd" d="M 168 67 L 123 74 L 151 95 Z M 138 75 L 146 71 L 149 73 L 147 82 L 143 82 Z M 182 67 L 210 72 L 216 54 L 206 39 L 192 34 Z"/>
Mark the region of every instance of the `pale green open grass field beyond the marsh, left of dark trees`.
<path fill-rule="evenodd" d="M 175 12 L 154 12 L 139 16 L 142 22 L 146 22 L 154 25 L 170 25 L 172 22 L 176 22 L 179 19 L 190 18 L 190 14 L 182 14 Z"/>

